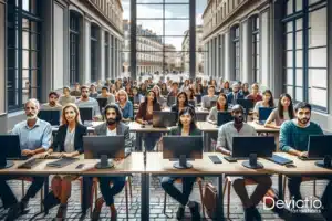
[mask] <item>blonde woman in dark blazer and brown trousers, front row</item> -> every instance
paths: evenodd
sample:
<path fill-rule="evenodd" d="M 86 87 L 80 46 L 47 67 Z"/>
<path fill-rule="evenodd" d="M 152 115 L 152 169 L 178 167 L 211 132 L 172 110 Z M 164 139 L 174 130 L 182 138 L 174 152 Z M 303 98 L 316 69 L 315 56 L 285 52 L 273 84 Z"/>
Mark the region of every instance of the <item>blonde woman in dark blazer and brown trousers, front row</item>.
<path fill-rule="evenodd" d="M 83 154 L 83 136 L 87 134 L 87 128 L 81 124 L 80 110 L 75 104 L 69 103 L 62 108 L 62 123 L 45 157 L 53 151 L 60 152 L 62 157 L 76 157 Z M 77 176 L 72 175 L 56 175 L 52 179 L 52 191 L 45 197 L 44 207 L 50 209 L 61 203 L 56 219 L 65 217 L 68 199 L 71 196 L 71 182 L 76 178 Z"/>

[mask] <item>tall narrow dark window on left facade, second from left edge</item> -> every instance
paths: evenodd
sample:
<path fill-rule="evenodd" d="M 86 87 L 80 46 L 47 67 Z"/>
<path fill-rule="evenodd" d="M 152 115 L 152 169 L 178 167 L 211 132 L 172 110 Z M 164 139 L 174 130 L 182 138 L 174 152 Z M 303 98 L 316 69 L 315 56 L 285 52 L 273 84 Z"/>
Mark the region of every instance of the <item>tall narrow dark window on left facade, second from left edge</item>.
<path fill-rule="evenodd" d="M 80 14 L 70 13 L 70 84 L 80 82 Z"/>

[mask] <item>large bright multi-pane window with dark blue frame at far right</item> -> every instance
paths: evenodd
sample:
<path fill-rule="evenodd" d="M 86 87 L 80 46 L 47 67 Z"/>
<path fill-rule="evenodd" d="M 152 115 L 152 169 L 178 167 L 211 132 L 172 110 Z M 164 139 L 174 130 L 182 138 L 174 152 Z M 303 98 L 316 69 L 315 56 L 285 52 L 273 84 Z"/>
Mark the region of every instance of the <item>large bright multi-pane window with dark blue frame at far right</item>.
<path fill-rule="evenodd" d="M 284 91 L 328 112 L 326 1 L 289 0 L 284 14 Z"/>

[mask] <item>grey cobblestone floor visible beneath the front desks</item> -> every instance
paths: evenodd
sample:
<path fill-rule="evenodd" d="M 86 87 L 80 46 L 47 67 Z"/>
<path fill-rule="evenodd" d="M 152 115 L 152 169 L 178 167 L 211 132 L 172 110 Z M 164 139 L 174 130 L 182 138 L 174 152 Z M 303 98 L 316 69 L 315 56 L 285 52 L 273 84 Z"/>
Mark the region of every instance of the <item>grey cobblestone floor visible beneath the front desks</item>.
<path fill-rule="evenodd" d="M 164 200 L 164 191 L 160 188 L 159 179 L 157 177 L 152 177 L 151 179 L 151 220 L 163 221 L 163 220 L 176 220 L 175 212 L 177 210 L 178 204 L 170 199 L 167 198 L 167 209 L 166 214 L 163 214 L 163 200 Z M 205 181 L 215 181 L 214 178 L 206 178 Z M 141 220 L 141 177 L 134 176 L 133 179 L 133 199 L 129 203 L 129 220 Z M 277 188 L 277 177 L 273 176 L 273 187 Z M 21 197 L 21 182 L 19 181 L 11 181 L 11 187 L 13 188 L 15 194 L 20 198 Z M 27 185 L 28 186 L 28 185 Z M 249 193 L 252 191 L 255 186 L 248 187 Z M 325 187 L 324 181 L 317 182 L 317 193 L 320 196 Z M 0 190 L 1 191 L 1 190 Z M 303 182 L 301 187 L 301 191 L 303 196 L 312 196 L 313 193 L 313 182 Z M 40 212 L 40 199 L 39 196 L 31 200 L 29 203 L 29 208 L 27 214 L 21 215 L 18 220 L 52 220 L 56 215 L 58 207 L 53 208 L 48 215 L 44 217 L 43 213 L 39 214 Z M 287 196 L 288 197 L 288 196 Z M 193 194 L 190 196 L 191 199 L 200 201 L 199 191 L 197 185 L 195 185 L 195 189 Z M 239 198 L 236 196 L 234 190 L 231 190 L 231 203 L 230 203 L 230 219 L 231 220 L 243 220 L 243 210 L 240 203 Z M 125 213 L 125 197 L 124 191 L 121 192 L 116 199 L 116 208 L 118 210 L 118 220 L 126 220 Z M 274 214 L 271 211 L 263 210 L 262 204 L 259 204 L 259 211 L 262 214 L 263 220 L 323 220 L 320 215 L 283 215 L 280 218 L 278 214 Z M 7 210 L 0 209 L 0 220 L 4 219 Z M 226 215 L 226 199 L 225 199 L 225 215 Z M 100 220 L 110 220 L 110 210 L 104 207 L 101 213 Z M 81 213 L 81 206 L 80 206 L 80 183 L 75 181 L 73 183 L 72 189 L 72 197 L 69 202 L 66 220 L 90 220 L 90 212 L 85 215 Z M 186 219 L 190 220 L 189 211 L 186 211 Z M 206 219 L 209 220 L 209 219 Z"/>

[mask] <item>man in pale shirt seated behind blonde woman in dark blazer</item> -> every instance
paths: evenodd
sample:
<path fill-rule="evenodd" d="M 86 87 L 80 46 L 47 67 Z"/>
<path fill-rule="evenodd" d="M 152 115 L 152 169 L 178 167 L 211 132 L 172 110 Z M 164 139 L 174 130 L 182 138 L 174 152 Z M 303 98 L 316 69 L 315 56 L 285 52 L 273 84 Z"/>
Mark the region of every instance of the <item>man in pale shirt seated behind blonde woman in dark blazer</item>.
<path fill-rule="evenodd" d="M 81 86 L 81 97 L 76 101 L 77 107 L 92 107 L 92 115 L 94 119 L 101 118 L 101 110 L 98 102 L 95 98 L 89 97 L 89 87 Z"/>

